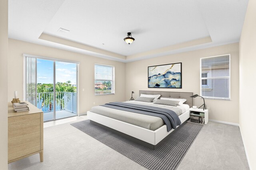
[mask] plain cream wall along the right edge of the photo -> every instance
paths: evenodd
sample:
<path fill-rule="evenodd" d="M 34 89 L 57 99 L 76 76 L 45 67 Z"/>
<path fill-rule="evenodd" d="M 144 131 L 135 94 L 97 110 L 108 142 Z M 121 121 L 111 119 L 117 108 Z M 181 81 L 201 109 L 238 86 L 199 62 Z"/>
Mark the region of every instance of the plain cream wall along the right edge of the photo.
<path fill-rule="evenodd" d="M 249 0 L 239 43 L 241 135 L 251 170 L 256 170 L 256 1 Z"/>

